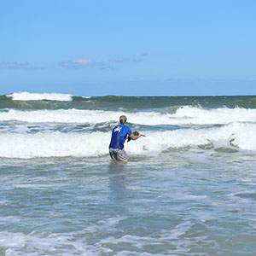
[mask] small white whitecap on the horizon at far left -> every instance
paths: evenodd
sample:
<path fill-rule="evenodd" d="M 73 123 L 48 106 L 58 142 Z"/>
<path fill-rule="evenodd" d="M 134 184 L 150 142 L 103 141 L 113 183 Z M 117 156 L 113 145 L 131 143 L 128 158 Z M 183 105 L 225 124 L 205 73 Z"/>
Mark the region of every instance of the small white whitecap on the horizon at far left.
<path fill-rule="evenodd" d="M 61 93 L 30 93 L 27 91 L 24 92 L 15 92 L 8 95 L 12 97 L 13 101 L 60 101 L 60 102 L 71 102 L 73 96 L 70 94 L 61 94 Z"/>

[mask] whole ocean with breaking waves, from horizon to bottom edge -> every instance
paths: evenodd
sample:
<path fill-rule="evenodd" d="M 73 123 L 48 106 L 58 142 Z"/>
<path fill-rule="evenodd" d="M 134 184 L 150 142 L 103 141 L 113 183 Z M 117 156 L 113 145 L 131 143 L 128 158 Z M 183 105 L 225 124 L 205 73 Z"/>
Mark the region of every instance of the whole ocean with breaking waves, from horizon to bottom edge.
<path fill-rule="evenodd" d="M 0 255 L 256 255 L 255 131 L 256 96 L 0 96 Z"/>

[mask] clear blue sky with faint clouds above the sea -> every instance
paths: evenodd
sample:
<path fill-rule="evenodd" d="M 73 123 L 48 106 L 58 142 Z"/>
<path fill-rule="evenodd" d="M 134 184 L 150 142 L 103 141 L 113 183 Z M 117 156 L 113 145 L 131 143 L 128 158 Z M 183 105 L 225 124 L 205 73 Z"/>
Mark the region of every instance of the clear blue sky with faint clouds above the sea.
<path fill-rule="evenodd" d="M 2 0 L 0 94 L 256 95 L 254 0 Z"/>

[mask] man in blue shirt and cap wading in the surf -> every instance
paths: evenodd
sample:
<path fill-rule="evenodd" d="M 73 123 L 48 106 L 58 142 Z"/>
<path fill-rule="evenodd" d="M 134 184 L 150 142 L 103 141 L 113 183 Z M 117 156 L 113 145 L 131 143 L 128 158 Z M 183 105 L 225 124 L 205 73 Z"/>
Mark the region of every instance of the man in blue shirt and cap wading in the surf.
<path fill-rule="evenodd" d="M 109 154 L 114 161 L 128 161 L 128 156 L 124 149 L 124 143 L 126 138 L 137 140 L 141 137 L 141 134 L 134 135 L 131 133 L 131 129 L 126 126 L 127 118 L 125 115 L 119 117 L 119 125 L 115 125 L 112 131 L 112 137 L 109 144 Z"/>

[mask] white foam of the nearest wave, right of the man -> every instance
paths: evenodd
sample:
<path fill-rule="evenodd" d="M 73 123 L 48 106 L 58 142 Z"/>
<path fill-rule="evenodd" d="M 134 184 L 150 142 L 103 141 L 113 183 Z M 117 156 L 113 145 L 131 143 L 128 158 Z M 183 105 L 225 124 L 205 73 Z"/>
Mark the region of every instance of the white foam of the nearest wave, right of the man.
<path fill-rule="evenodd" d="M 180 129 L 175 131 L 145 132 L 147 137 L 127 143 L 125 148 L 131 154 L 161 152 L 168 148 L 197 147 L 212 144 L 214 148 L 232 145 L 256 151 L 256 124 L 232 123 L 222 127 L 205 129 Z"/>

